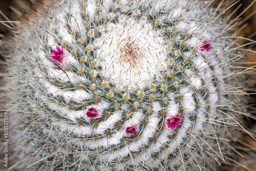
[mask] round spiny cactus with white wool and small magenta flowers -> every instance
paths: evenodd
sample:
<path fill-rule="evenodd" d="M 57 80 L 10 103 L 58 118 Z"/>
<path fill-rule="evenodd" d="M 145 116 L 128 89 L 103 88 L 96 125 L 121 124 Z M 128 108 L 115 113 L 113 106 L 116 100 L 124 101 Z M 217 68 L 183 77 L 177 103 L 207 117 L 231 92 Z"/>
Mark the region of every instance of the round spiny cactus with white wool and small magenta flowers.
<path fill-rule="evenodd" d="M 8 59 L 23 169 L 228 163 L 243 51 L 211 3 L 66 0 L 27 26 Z"/>

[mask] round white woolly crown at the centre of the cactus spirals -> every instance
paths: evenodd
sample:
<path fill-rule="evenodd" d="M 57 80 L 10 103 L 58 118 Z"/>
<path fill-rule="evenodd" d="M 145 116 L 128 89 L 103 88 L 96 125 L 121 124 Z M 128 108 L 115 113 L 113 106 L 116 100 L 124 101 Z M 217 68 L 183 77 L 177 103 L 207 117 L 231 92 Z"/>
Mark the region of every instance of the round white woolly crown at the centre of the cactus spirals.
<path fill-rule="evenodd" d="M 143 87 L 165 67 L 161 42 L 150 24 L 109 24 L 96 41 L 102 74 L 120 87 Z"/>

